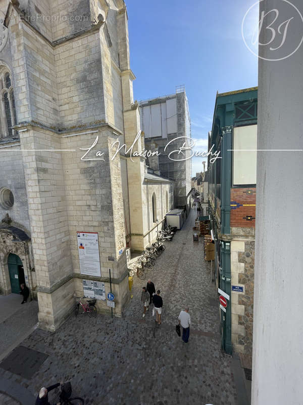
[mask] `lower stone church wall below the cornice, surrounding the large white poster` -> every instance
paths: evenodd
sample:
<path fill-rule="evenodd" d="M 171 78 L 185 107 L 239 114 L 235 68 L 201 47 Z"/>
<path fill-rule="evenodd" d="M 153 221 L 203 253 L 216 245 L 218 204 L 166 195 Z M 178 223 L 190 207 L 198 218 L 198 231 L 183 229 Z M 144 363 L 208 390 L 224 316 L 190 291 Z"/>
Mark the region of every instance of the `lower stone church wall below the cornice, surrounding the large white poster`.
<path fill-rule="evenodd" d="M 95 153 L 100 151 L 104 153 L 102 158 L 105 161 L 81 160 L 84 151 L 80 148 L 89 148 L 97 136 L 97 144 L 85 158 L 94 159 Z M 116 156 L 113 161 L 110 159 L 112 151 L 108 139 L 111 137 L 114 137 L 111 131 L 104 129 L 62 138 L 62 149 L 75 149 L 75 152 L 67 152 L 63 155 L 63 162 L 70 249 L 73 269 L 76 273 L 80 272 L 77 232 L 99 233 L 102 277 L 108 276 L 109 265 L 112 266 L 108 256 L 117 259 L 120 257 L 119 251 L 125 248 L 120 158 Z M 114 276 L 119 278 L 120 275 Z"/>

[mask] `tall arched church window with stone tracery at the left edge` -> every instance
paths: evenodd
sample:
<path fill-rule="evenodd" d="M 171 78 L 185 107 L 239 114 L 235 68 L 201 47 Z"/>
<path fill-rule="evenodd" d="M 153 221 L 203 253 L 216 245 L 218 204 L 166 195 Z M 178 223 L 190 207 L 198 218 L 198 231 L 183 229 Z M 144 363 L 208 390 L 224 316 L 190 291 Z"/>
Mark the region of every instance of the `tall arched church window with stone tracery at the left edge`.
<path fill-rule="evenodd" d="M 17 125 L 15 97 L 11 74 L 5 66 L 0 66 L 0 136 L 5 138 L 15 134 L 13 127 Z"/>

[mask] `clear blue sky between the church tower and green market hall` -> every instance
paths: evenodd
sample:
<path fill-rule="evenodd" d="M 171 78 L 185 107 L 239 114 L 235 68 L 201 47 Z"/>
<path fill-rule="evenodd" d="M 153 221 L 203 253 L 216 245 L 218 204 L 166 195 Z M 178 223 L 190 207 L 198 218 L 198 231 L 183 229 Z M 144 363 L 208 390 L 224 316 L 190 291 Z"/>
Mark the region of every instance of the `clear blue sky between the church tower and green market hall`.
<path fill-rule="evenodd" d="M 134 98 L 172 94 L 185 85 L 195 150 L 206 150 L 217 90 L 258 85 L 258 58 L 241 36 L 242 19 L 255 1 L 125 1 Z M 193 174 L 203 170 L 202 160 L 192 159 Z"/>

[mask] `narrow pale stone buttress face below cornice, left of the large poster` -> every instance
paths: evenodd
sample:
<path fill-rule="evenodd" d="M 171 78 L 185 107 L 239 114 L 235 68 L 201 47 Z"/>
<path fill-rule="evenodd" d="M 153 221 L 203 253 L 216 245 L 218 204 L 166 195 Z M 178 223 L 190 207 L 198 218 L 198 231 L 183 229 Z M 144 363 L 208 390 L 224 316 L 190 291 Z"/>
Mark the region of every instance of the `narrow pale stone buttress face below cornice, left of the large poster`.
<path fill-rule="evenodd" d="M 57 134 L 28 127 L 21 134 L 31 239 L 37 286 L 52 288 L 71 274 L 69 228 L 61 152 Z"/>

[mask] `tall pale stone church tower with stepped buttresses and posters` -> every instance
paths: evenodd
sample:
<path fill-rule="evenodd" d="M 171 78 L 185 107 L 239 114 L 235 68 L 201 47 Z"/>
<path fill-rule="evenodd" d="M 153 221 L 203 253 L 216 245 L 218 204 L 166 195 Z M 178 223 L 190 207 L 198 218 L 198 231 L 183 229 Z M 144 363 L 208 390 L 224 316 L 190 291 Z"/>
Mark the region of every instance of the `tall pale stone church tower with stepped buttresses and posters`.
<path fill-rule="evenodd" d="M 12 291 L 15 268 L 37 296 L 40 326 L 55 330 L 85 283 L 110 292 L 111 269 L 121 315 L 131 190 L 127 159 L 112 160 L 112 145 L 130 145 L 140 130 L 125 4 L 2 0 L 0 32 L 1 293 Z M 144 160 L 132 168 L 140 182 Z M 99 267 L 95 253 L 79 260 L 77 232 L 96 235 Z M 105 296 L 97 304 L 109 309 Z"/>

